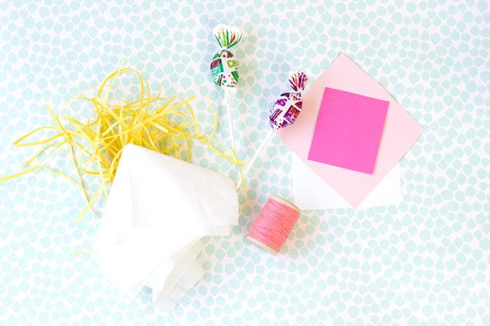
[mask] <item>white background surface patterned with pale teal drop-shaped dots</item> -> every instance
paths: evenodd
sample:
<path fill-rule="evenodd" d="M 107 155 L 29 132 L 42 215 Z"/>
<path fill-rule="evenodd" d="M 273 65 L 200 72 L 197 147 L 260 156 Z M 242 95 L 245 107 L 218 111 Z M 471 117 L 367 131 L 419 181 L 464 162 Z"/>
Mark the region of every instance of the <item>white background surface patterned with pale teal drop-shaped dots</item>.
<path fill-rule="evenodd" d="M 12 143 L 52 123 L 46 103 L 63 115 L 121 62 L 168 95 L 209 90 L 228 141 L 209 73 L 221 22 L 246 34 L 235 50 L 241 157 L 268 131 L 288 71 L 313 83 L 345 52 L 423 125 L 400 162 L 403 202 L 304 212 L 269 255 L 244 236 L 269 194 L 292 199 L 290 151 L 273 139 L 248 176 L 239 226 L 202 240 L 204 278 L 167 314 L 150 290 L 128 297 L 90 255 L 73 255 L 90 250 L 100 220 L 89 211 L 74 222 L 80 191 L 38 171 L 0 185 L 1 325 L 490 325 L 488 1 L 157 2 L 0 1 L 1 175 L 34 155 Z M 238 176 L 202 146 L 195 162 Z M 73 173 L 66 150 L 49 163 Z"/>

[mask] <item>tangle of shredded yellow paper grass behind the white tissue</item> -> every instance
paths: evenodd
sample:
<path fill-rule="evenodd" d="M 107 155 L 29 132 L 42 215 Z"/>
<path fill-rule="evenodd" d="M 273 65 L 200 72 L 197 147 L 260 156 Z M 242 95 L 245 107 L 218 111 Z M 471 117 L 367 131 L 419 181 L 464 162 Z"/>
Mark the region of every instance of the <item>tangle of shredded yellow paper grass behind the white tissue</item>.
<path fill-rule="evenodd" d="M 136 76 L 139 85 L 136 94 L 131 92 L 132 96 L 136 97 L 131 101 L 126 99 L 125 92 L 114 86 L 118 78 L 125 75 L 133 78 Z M 104 80 L 93 97 L 80 95 L 71 99 L 71 101 L 85 101 L 92 107 L 90 117 L 86 121 L 64 115 L 65 123 L 62 123 L 59 115 L 47 106 L 55 126 L 38 127 L 14 143 L 16 147 L 42 146 L 42 148 L 25 162 L 23 166 L 25 171 L 1 177 L 0 182 L 24 176 L 38 169 L 66 178 L 83 190 L 87 200 L 87 206 L 76 218 L 78 221 L 92 207 L 99 194 L 103 193 L 107 198 L 107 184 L 113 181 L 120 155 L 128 143 L 190 161 L 191 141 L 199 141 L 216 155 L 232 164 L 238 164 L 239 174 L 243 179 L 241 164 L 244 162 L 239 161 L 236 153 L 225 148 L 215 137 L 218 121 L 211 102 L 207 100 L 214 125 L 209 134 L 204 134 L 190 105 L 193 99 L 195 96 L 186 99 L 180 99 L 178 96 L 161 97 L 161 87 L 155 97 L 151 94 L 148 81 L 138 71 L 120 68 Z M 48 138 L 29 141 L 31 136 L 41 131 L 50 133 Z M 78 181 L 44 165 L 45 160 L 63 146 L 69 148 Z M 100 178 L 97 191 L 90 192 L 85 185 L 84 176 Z"/>

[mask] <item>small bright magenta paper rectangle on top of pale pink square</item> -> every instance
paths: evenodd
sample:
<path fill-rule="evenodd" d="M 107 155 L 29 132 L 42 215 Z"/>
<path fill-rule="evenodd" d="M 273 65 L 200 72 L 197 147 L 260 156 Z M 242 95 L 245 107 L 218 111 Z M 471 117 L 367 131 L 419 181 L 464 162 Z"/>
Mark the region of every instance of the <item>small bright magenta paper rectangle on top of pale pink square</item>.
<path fill-rule="evenodd" d="M 372 174 L 388 105 L 325 87 L 308 160 Z"/>

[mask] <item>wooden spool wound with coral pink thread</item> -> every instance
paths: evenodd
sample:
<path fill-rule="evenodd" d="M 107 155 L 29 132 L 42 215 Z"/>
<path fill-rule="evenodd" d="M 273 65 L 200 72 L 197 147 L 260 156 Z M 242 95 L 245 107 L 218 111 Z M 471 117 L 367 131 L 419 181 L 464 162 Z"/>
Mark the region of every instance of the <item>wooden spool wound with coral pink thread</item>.
<path fill-rule="evenodd" d="M 300 208 L 286 199 L 271 195 L 253 222 L 246 239 L 269 253 L 279 253 L 298 218 Z"/>

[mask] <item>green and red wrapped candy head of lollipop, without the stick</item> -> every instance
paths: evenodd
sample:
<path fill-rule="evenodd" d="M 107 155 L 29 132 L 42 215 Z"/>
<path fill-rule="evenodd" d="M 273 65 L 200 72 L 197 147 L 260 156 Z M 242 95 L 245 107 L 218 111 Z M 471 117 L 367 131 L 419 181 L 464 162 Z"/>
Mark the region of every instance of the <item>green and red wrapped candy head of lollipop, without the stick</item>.
<path fill-rule="evenodd" d="M 213 29 L 214 38 L 221 46 L 211 62 L 211 76 L 216 85 L 220 87 L 235 87 L 238 83 L 238 60 L 235 59 L 230 48 L 237 45 L 243 34 L 238 27 L 219 24 Z"/>

